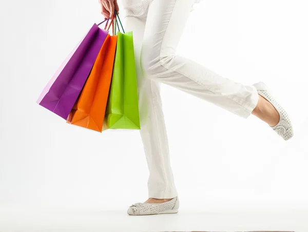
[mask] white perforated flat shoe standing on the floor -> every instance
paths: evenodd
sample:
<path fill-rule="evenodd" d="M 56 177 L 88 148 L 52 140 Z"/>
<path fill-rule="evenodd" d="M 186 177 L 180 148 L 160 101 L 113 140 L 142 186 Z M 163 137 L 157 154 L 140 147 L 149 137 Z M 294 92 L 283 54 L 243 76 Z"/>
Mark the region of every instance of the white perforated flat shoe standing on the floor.
<path fill-rule="evenodd" d="M 179 198 L 175 197 L 164 203 L 136 203 L 129 206 L 129 215 L 176 214 L 179 211 Z"/>

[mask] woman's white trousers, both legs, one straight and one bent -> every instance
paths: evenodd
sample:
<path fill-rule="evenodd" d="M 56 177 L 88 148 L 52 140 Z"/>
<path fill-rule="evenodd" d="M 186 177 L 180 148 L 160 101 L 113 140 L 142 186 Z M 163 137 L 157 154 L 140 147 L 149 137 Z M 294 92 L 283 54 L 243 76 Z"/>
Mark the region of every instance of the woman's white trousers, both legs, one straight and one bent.
<path fill-rule="evenodd" d="M 149 169 L 148 197 L 174 198 L 178 192 L 170 166 L 160 83 L 195 95 L 245 119 L 256 107 L 259 95 L 252 85 L 235 83 L 176 55 L 196 0 L 122 1 L 124 28 L 133 31 L 140 133 Z"/>

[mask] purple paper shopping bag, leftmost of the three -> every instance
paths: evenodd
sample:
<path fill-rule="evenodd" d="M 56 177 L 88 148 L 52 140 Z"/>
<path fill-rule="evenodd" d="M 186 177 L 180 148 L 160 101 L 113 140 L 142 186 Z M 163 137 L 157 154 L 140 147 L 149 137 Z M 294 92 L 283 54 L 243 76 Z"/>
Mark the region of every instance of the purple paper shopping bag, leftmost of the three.
<path fill-rule="evenodd" d="M 94 24 L 87 32 L 55 72 L 36 101 L 65 120 L 67 120 L 83 88 L 108 34 L 108 30 L 99 28 L 100 24 Z"/>

